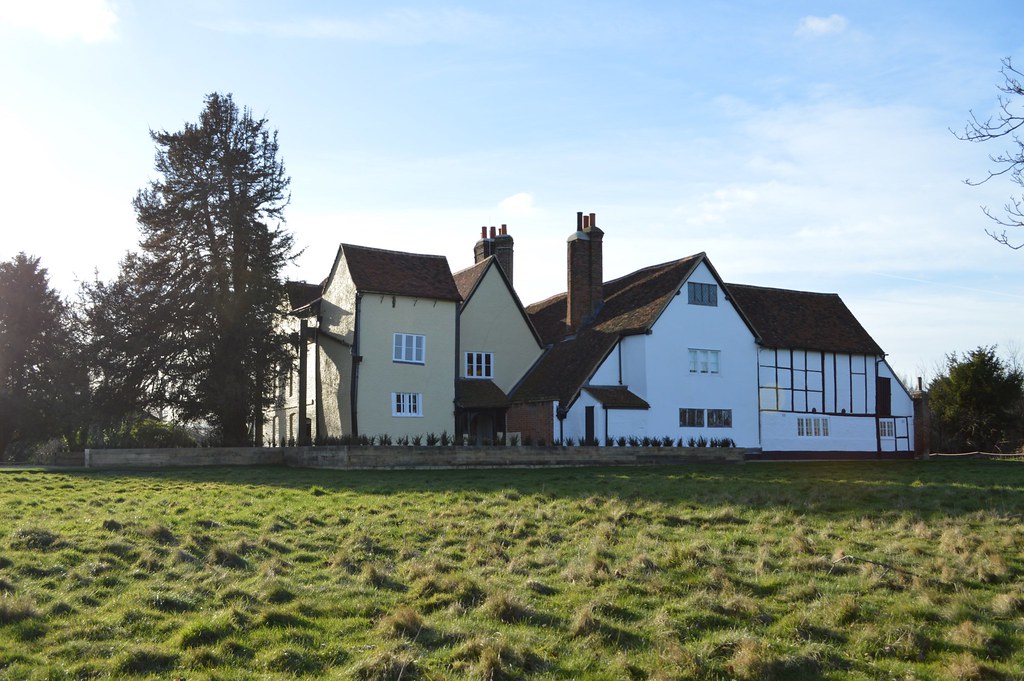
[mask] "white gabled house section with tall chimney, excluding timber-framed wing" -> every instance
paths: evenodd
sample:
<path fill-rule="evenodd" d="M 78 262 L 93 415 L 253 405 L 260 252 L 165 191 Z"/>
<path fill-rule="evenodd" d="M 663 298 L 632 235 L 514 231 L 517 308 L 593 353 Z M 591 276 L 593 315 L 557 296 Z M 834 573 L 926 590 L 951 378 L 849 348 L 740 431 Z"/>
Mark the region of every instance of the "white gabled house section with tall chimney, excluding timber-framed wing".
<path fill-rule="evenodd" d="M 578 215 L 566 293 L 526 308 L 548 351 L 513 401 L 550 414 L 546 433 L 527 432 L 759 446 L 754 332 L 707 255 L 602 282 L 596 217 Z"/>

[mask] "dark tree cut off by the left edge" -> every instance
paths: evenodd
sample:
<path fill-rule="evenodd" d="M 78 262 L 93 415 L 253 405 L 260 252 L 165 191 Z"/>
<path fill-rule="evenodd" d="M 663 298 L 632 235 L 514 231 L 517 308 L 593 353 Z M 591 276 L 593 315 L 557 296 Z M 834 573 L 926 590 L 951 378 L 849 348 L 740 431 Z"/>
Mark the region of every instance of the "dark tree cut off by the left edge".
<path fill-rule="evenodd" d="M 0 262 L 0 455 L 70 435 L 86 394 L 71 310 L 39 258 Z"/>

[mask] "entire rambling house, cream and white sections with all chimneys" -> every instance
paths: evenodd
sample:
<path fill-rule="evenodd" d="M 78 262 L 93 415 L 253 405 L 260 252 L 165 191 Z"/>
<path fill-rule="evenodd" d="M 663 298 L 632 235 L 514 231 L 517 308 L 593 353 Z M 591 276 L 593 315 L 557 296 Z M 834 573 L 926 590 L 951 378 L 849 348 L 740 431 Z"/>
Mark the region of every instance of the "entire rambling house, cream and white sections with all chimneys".
<path fill-rule="evenodd" d="M 726 284 L 705 253 L 605 282 L 603 246 L 597 216 L 579 213 L 565 293 L 523 306 L 506 225 L 481 230 L 455 274 L 442 256 L 343 244 L 322 287 L 296 288 L 301 380 L 280 387 L 270 439 L 297 421 L 297 441 L 914 451 L 914 400 L 839 296 Z"/>

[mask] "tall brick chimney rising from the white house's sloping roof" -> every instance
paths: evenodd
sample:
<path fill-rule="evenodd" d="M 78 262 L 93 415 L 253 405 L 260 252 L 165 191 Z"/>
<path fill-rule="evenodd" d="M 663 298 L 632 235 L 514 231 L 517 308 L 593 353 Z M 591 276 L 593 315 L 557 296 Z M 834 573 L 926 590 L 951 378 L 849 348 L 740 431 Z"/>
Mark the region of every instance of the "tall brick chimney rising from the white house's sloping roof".
<path fill-rule="evenodd" d="M 597 215 L 577 213 L 577 231 L 568 238 L 565 326 L 577 332 L 604 303 L 602 245 Z"/>

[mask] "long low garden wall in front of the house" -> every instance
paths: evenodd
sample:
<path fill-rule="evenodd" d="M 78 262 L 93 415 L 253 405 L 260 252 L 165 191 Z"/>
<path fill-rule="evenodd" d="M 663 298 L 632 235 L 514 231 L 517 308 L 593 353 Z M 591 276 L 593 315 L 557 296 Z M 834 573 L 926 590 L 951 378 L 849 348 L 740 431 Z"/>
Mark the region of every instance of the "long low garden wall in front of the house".
<path fill-rule="evenodd" d="M 760 450 L 662 446 L 281 446 L 86 450 L 89 468 L 273 466 L 334 469 L 649 466 L 739 463 Z"/>

